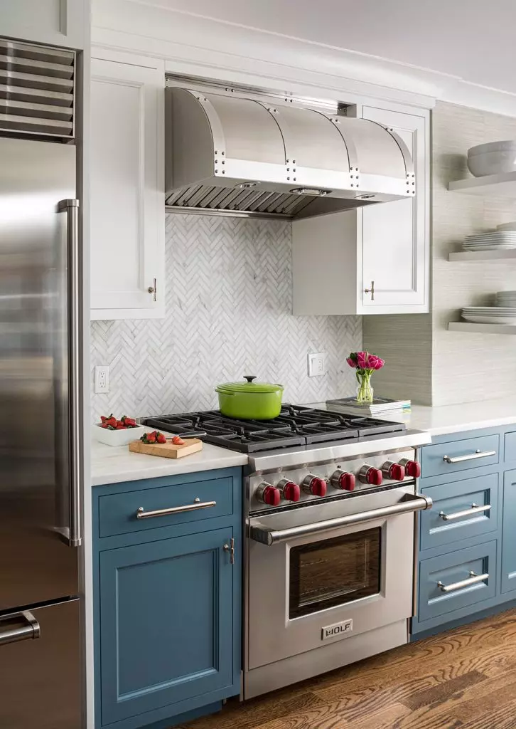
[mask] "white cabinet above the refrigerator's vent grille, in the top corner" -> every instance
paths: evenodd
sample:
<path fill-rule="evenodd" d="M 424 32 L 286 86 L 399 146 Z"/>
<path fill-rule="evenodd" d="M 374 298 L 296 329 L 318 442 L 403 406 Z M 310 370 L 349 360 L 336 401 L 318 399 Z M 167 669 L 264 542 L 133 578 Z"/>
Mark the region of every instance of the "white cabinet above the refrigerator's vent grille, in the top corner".
<path fill-rule="evenodd" d="M 90 0 L 0 0 L 0 34 L 82 50 Z"/>

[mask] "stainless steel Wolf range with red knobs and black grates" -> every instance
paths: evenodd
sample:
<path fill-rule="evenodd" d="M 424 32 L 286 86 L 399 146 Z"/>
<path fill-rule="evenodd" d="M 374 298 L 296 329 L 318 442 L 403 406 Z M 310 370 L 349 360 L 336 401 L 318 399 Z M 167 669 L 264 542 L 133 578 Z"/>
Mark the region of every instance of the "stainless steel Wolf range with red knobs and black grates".
<path fill-rule="evenodd" d="M 249 453 L 244 698 L 408 642 L 428 434 L 299 406 L 266 422 L 213 411 L 146 424 Z"/>

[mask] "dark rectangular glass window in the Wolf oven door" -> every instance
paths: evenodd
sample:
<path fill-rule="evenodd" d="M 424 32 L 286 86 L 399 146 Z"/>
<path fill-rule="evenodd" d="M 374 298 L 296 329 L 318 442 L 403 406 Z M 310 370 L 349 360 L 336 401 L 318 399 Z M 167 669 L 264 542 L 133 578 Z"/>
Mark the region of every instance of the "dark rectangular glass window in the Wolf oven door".
<path fill-rule="evenodd" d="M 381 527 L 290 549 L 289 617 L 380 592 Z"/>

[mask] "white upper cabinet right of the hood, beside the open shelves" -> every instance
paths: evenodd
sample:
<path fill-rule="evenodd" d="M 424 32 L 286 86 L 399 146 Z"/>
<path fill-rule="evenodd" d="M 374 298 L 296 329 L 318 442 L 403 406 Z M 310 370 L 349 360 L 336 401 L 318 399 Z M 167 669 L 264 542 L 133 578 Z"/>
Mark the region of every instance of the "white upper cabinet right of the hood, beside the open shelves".
<path fill-rule="evenodd" d="M 429 113 L 364 106 L 362 116 L 405 141 L 416 197 L 295 221 L 295 314 L 429 311 Z"/>

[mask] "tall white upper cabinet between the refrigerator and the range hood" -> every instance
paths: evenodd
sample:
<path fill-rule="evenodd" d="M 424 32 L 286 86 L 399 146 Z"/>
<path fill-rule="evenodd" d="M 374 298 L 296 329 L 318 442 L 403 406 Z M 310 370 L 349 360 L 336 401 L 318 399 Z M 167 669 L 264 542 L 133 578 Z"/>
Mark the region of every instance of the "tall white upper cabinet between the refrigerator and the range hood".
<path fill-rule="evenodd" d="M 91 317 L 156 318 L 164 316 L 164 69 L 119 58 L 92 58 Z"/>

